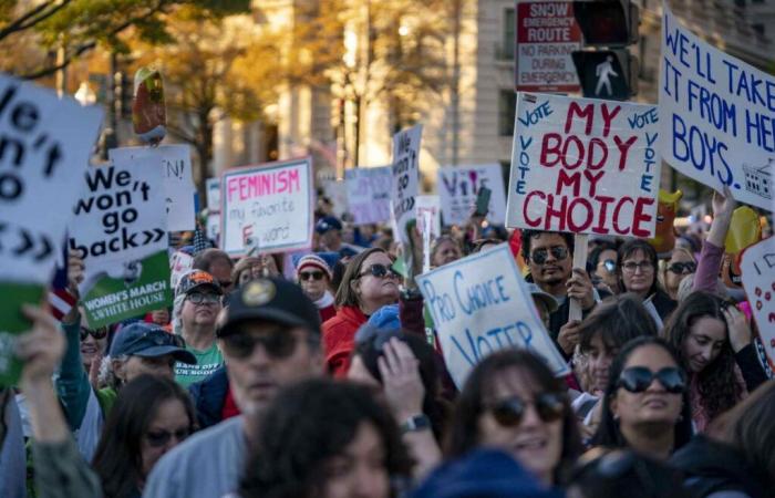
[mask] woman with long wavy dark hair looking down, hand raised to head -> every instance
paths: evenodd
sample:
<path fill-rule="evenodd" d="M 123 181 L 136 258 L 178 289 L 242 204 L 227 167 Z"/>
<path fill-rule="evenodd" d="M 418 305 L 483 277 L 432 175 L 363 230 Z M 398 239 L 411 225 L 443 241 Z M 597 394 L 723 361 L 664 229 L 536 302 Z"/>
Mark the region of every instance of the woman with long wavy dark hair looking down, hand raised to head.
<path fill-rule="evenodd" d="M 745 315 L 716 295 L 692 292 L 673 313 L 664 335 L 689 372 L 698 432 L 766 381 Z"/>

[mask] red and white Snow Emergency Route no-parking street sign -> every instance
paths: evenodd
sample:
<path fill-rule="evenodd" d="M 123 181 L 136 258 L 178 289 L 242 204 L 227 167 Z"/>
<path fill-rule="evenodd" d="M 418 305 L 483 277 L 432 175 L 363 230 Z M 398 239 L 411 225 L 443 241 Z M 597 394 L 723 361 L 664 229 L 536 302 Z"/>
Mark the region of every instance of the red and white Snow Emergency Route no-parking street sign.
<path fill-rule="evenodd" d="M 581 40 L 572 2 L 517 3 L 517 91 L 579 92 L 571 53 Z"/>

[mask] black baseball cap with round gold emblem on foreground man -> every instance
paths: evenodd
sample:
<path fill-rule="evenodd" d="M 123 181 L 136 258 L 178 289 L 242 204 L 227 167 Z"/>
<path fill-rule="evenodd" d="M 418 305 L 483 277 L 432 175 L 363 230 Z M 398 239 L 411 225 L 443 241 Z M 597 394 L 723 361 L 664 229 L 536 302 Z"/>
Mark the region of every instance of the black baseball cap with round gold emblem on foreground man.
<path fill-rule="evenodd" d="M 320 333 L 320 313 L 314 303 L 299 286 L 276 277 L 251 280 L 231 291 L 216 334 L 219 338 L 232 334 L 238 331 L 234 325 L 249 320 L 301 326 Z"/>

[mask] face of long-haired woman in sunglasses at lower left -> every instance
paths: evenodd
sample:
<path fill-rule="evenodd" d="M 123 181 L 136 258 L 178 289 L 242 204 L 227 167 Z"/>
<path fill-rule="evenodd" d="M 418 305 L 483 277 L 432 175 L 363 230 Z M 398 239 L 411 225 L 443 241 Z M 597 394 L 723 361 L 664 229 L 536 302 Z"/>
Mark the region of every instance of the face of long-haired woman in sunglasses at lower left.
<path fill-rule="evenodd" d="M 192 430 L 193 421 L 179 400 L 167 400 L 158 405 L 141 443 L 143 478 L 151 474 L 162 456 L 180 444 Z"/>

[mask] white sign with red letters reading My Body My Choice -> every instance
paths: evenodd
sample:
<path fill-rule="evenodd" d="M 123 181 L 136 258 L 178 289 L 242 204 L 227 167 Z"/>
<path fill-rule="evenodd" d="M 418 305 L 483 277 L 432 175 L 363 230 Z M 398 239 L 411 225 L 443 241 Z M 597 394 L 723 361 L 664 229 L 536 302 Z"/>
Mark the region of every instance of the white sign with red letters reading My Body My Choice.
<path fill-rule="evenodd" d="M 653 237 L 655 106 L 520 93 L 516 118 L 508 227 Z"/>

